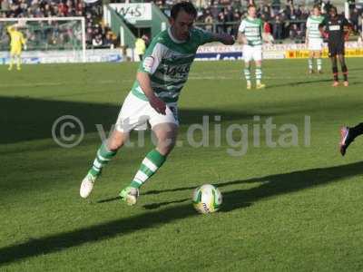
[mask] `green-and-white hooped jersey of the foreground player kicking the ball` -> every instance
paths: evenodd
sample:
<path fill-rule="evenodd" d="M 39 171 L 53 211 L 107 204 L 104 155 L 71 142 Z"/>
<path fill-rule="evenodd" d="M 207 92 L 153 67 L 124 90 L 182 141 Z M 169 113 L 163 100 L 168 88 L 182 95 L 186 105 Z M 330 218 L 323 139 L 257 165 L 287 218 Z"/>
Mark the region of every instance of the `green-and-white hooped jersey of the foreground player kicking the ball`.
<path fill-rule="evenodd" d="M 212 37 L 209 32 L 192 28 L 188 41 L 178 41 L 168 28 L 152 39 L 138 71 L 150 74 L 152 90 L 163 102 L 178 102 L 198 47 L 212 42 Z M 148 101 L 137 80 L 131 92 Z"/>

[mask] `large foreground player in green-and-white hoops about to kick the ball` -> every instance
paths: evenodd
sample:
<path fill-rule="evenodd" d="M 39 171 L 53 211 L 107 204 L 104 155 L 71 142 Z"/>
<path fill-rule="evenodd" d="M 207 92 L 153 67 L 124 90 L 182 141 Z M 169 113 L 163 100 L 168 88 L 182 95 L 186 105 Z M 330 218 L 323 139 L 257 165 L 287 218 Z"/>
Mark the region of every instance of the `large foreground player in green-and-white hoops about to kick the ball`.
<path fill-rule="evenodd" d="M 120 192 L 127 204 L 136 203 L 139 189 L 162 167 L 172 151 L 178 133 L 177 102 L 188 79 L 191 63 L 198 47 L 210 42 L 234 44 L 229 34 L 211 34 L 194 28 L 197 11 L 189 2 L 172 6 L 171 27 L 158 34 L 148 47 L 116 121 L 116 128 L 99 150 L 93 167 L 83 179 L 80 189 L 87 198 L 103 166 L 113 158 L 132 130 L 144 129 L 147 122 L 157 138 L 157 146 L 142 160 L 131 184 Z"/>

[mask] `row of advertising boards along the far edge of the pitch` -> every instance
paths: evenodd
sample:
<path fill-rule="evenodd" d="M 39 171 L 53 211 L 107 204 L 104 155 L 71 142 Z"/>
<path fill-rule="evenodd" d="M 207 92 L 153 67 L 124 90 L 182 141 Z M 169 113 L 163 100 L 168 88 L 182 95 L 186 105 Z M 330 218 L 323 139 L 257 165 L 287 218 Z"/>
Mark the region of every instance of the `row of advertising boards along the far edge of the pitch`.
<path fill-rule="evenodd" d="M 86 63 L 114 63 L 133 60 L 132 49 L 126 54 L 120 49 L 86 50 Z M 363 57 L 363 44 L 347 42 L 347 57 Z M 303 59 L 308 58 L 309 51 L 305 44 L 265 44 L 263 45 L 264 59 Z M 325 45 L 323 57 L 328 57 Z M 241 45 L 205 45 L 198 49 L 196 61 L 235 61 L 242 59 Z M 23 63 L 82 63 L 82 56 L 74 51 L 28 51 L 22 54 Z M 9 62 L 9 53 L 0 52 L 0 64 Z"/>

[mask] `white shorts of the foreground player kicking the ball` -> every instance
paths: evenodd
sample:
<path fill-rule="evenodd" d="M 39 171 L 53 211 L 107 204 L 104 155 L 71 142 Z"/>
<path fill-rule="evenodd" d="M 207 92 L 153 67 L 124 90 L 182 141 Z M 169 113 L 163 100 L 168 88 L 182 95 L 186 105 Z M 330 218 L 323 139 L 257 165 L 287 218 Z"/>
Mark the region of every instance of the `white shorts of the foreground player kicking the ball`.
<path fill-rule="evenodd" d="M 152 128 L 166 122 L 172 122 L 179 126 L 176 103 L 168 104 L 165 113 L 163 115 L 156 112 L 149 102 L 143 101 L 130 92 L 123 102 L 115 128 L 122 132 L 142 131 L 147 129 L 148 122 Z"/>

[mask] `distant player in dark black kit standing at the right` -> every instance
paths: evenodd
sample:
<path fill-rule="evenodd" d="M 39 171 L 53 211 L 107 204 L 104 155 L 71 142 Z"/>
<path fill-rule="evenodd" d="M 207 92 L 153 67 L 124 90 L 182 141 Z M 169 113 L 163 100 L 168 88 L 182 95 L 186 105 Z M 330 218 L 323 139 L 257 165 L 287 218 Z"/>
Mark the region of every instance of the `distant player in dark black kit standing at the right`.
<path fill-rule="evenodd" d="M 344 58 L 344 43 L 349 34 L 350 25 L 343 15 L 338 15 L 337 8 L 332 6 L 329 10 L 329 17 L 319 24 L 321 34 L 328 35 L 329 57 L 332 64 L 334 83 L 337 87 L 338 82 L 338 63 L 337 55 L 344 77 L 344 86 L 348 87 L 348 68 Z"/>

